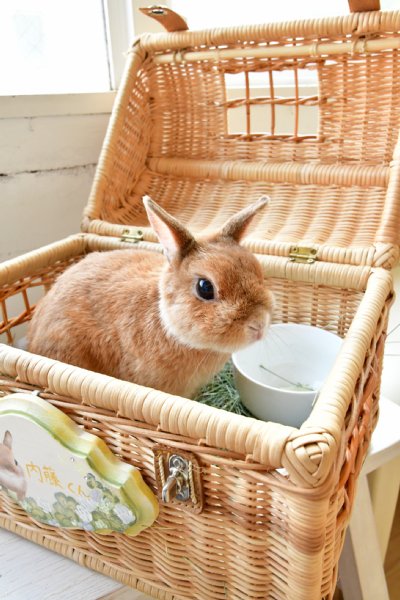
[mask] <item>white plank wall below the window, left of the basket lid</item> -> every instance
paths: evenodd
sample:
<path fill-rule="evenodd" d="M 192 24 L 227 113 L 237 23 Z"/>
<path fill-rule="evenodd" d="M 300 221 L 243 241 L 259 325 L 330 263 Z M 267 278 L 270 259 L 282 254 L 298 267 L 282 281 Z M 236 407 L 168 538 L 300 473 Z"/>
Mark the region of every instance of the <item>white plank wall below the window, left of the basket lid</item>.
<path fill-rule="evenodd" d="M 79 231 L 113 99 L 0 98 L 0 261 Z"/>

